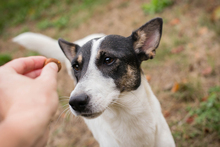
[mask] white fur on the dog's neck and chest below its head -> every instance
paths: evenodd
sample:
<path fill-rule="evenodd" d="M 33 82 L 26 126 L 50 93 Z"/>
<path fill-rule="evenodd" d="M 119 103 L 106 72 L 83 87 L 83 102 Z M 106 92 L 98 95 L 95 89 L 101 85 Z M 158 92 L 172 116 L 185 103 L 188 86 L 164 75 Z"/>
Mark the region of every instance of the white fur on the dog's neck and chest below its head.
<path fill-rule="evenodd" d="M 137 90 L 120 95 L 98 118 L 84 120 L 100 147 L 175 146 L 160 104 L 144 76 Z"/>

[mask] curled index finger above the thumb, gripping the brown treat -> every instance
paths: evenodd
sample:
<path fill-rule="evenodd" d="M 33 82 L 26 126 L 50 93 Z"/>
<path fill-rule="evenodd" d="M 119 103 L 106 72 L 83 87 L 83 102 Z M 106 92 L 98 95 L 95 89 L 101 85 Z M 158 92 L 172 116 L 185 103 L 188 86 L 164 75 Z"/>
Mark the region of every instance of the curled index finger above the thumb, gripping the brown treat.
<path fill-rule="evenodd" d="M 12 68 L 19 74 L 26 74 L 30 71 L 43 68 L 46 58 L 42 56 L 18 58 L 8 62 L 4 67 Z"/>

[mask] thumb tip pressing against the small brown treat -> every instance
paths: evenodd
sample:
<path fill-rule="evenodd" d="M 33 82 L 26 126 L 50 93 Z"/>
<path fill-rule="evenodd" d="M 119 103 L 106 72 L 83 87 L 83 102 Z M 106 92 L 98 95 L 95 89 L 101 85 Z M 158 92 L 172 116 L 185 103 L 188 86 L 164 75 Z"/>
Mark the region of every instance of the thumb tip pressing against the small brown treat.
<path fill-rule="evenodd" d="M 44 66 L 39 78 L 46 80 L 48 82 L 55 82 L 56 83 L 57 71 L 58 71 L 58 66 L 55 63 L 51 62 L 51 63 Z"/>

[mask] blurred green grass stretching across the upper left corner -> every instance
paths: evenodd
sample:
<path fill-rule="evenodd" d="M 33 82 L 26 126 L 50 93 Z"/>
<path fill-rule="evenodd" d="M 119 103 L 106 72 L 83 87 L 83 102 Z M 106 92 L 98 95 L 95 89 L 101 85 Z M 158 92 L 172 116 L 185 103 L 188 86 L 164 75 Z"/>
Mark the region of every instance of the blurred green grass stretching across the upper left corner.
<path fill-rule="evenodd" d="M 7 0 L 0 1 L 0 34 L 7 28 L 37 21 L 39 29 L 79 26 L 94 12 L 96 6 L 109 0 Z M 80 13 L 86 13 L 81 16 Z M 7 15 L 6 15 L 7 14 Z"/>

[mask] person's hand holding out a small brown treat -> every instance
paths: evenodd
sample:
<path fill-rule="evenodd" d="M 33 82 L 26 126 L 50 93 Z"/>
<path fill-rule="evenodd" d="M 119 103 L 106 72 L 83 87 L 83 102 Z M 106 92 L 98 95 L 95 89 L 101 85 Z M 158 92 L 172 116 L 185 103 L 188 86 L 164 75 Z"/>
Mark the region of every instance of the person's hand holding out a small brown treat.
<path fill-rule="evenodd" d="M 10 131 L 25 143 L 22 146 L 46 143 L 44 134 L 58 107 L 58 68 L 55 63 L 43 67 L 45 60 L 20 58 L 0 67 L 1 124 L 11 124 Z"/>

